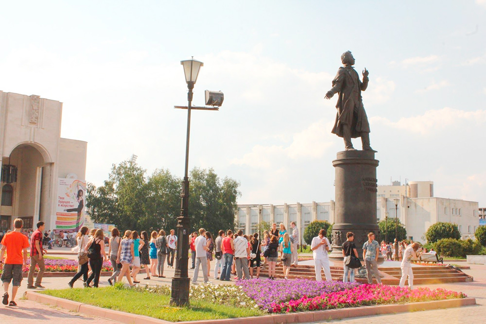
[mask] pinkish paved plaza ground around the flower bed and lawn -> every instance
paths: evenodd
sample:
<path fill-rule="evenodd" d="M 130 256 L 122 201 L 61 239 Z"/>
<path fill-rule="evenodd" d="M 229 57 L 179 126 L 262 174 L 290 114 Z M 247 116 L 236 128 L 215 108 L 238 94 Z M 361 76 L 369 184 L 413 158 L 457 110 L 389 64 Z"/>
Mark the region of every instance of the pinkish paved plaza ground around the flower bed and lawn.
<path fill-rule="evenodd" d="M 465 262 L 454 262 L 456 264 L 464 264 Z M 214 261 L 213 261 L 214 264 Z M 474 277 L 474 282 L 470 283 L 455 283 L 455 284 L 441 284 L 441 285 L 427 285 L 431 289 L 444 288 L 447 290 L 462 291 L 469 297 L 476 298 L 478 306 L 419 311 L 412 313 L 400 313 L 392 315 L 377 315 L 372 318 L 354 318 L 349 320 L 330 321 L 324 323 L 341 323 L 341 324 L 361 324 L 363 322 L 374 323 L 393 323 L 393 324 L 436 324 L 438 321 L 447 319 L 448 324 L 476 324 L 485 323 L 486 314 L 486 265 L 470 265 L 471 270 L 464 270 Z M 213 267 L 211 267 L 213 269 Z M 189 270 L 189 275 L 192 276 L 192 270 Z M 211 271 L 212 273 L 212 271 Z M 165 267 L 164 274 L 167 278 L 154 278 L 152 280 L 143 280 L 144 274 L 139 275 L 141 284 L 150 285 L 169 285 L 171 278 L 174 275 L 174 269 L 167 269 Z M 202 273 L 200 272 L 201 276 Z M 107 277 L 102 277 L 100 286 L 107 286 Z M 202 278 L 199 279 L 202 281 Z M 54 278 L 46 277 L 42 284 L 49 289 L 64 289 L 67 288 L 69 277 Z M 214 281 L 210 279 L 210 281 Z M 216 281 L 215 283 L 221 283 Z M 231 284 L 231 283 L 229 283 Z M 38 323 L 57 323 L 56 320 L 61 320 L 63 323 L 69 321 L 69 324 L 118 324 L 118 322 L 109 321 L 97 317 L 89 317 L 79 313 L 69 312 L 65 309 L 50 307 L 48 305 L 31 302 L 20 299 L 20 296 L 27 290 L 27 280 L 22 281 L 22 286 L 19 288 L 17 297 L 17 307 L 5 307 L 0 304 L 0 323 L 19 323 L 19 324 L 38 324 Z M 82 287 L 82 281 L 78 280 L 75 287 Z"/>

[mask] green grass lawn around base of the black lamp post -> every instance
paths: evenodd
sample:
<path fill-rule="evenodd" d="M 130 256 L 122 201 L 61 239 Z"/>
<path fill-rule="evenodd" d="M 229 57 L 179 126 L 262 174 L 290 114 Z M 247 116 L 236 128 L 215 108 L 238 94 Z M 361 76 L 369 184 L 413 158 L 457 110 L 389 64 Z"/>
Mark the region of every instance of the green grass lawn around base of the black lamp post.
<path fill-rule="evenodd" d="M 92 289 L 45 290 L 54 297 L 65 298 L 98 307 L 151 316 L 161 320 L 181 322 L 259 316 L 256 308 L 233 307 L 191 299 L 190 307 L 171 307 L 170 295 L 129 288 L 103 287 Z"/>

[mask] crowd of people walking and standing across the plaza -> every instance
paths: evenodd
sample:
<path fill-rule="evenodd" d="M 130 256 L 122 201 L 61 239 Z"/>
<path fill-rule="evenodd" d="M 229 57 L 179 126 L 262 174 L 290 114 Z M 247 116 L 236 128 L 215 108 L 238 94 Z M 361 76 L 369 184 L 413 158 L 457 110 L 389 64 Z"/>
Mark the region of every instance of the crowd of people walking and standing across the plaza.
<path fill-rule="evenodd" d="M 3 267 L 1 280 L 4 287 L 3 304 L 16 306 L 15 297 L 17 289 L 22 280 L 22 271 L 26 268 L 27 248 L 30 247 L 31 266 L 28 274 L 28 289 L 43 288 L 41 285 L 42 276 L 45 271 L 43 255 L 47 253 L 44 249 L 45 243 L 49 243 L 51 233 L 46 232 L 44 222 L 37 222 L 37 230 L 32 231 L 30 238 L 22 230 L 23 221 L 14 221 L 14 231 L 5 233 L 1 239 L 0 267 Z M 211 261 L 216 259 L 213 269 L 215 280 L 230 281 L 233 279 L 242 280 L 259 278 L 260 270 L 268 267 L 268 279 L 276 277 L 276 265 L 281 263 L 284 278 L 287 279 L 292 265 L 298 264 L 297 246 L 299 234 L 295 222 L 291 223 L 292 233 L 287 232 L 285 225 L 281 223 L 272 224 L 270 230 L 265 230 L 262 238 L 258 233 L 245 235 L 242 230 L 233 233 L 220 230 L 216 237 L 200 228 L 190 235 L 188 246 L 191 250 L 191 269 L 194 269 L 192 283 L 197 284 L 199 270 L 202 270 L 204 283 L 209 282 Z M 67 232 L 65 232 L 67 234 Z M 46 235 L 47 234 L 47 235 Z M 358 252 L 354 244 L 354 234 L 348 232 L 347 240 L 343 243 L 344 277 L 343 281 L 354 281 L 355 269 L 348 266 L 351 257 L 358 258 Z M 177 249 L 178 239 L 174 229 L 170 234 L 164 230 L 147 231 L 126 230 L 121 237 L 117 228 L 111 230 L 111 237 L 108 240 L 108 253 L 105 252 L 105 237 L 103 229 L 89 230 L 86 226 L 79 229 L 76 235 L 77 246 L 72 250 L 77 252 L 79 268 L 78 272 L 71 278 L 68 285 L 74 287 L 74 283 L 83 277 L 83 286 L 86 288 L 98 287 L 100 274 L 104 261 L 111 262 L 113 273 L 108 278 L 108 283 L 113 285 L 126 278 L 130 286 L 140 283 L 137 275 L 144 268 L 144 280 L 151 277 L 164 276 L 164 265 L 167 262 L 169 268 L 174 268 L 174 256 Z M 409 286 L 413 286 L 413 273 L 410 261 L 418 258 L 422 248 L 418 243 L 412 242 L 407 245 L 406 241 L 399 242 L 399 258 L 401 260 L 402 277 L 400 286 L 403 286 L 406 278 L 409 279 Z M 382 245 L 375 240 L 373 233 L 368 234 L 368 240 L 363 245 L 363 260 L 366 268 L 368 283 L 372 283 L 374 276 L 378 283 L 381 283 L 380 273 L 377 267 L 378 256 L 393 257 L 393 245 L 382 242 Z M 392 251 L 390 251 L 390 248 Z M 332 280 L 328 253 L 330 241 L 326 237 L 326 230 L 321 229 L 317 237 L 312 239 L 312 256 L 314 259 L 315 279 L 322 280 L 321 270 L 324 270 L 325 279 Z M 6 258 L 4 260 L 4 255 Z M 4 262 L 3 262 L 4 261 Z M 361 264 L 361 263 L 360 263 Z M 35 278 L 35 266 L 39 272 Z M 8 301 L 8 287 L 12 282 L 12 296 Z M 91 286 L 92 283 L 92 286 Z"/>

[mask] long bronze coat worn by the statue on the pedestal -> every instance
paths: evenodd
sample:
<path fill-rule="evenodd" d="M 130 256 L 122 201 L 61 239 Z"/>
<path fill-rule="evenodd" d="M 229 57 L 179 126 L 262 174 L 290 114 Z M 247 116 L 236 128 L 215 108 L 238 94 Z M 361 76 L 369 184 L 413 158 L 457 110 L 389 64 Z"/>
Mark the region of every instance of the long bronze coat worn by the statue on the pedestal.
<path fill-rule="evenodd" d="M 336 122 L 331 133 L 343 137 L 343 124 L 351 125 L 351 137 L 361 136 L 361 132 L 369 133 L 368 117 L 363 107 L 361 91 L 366 90 L 368 78 L 360 81 L 358 72 L 352 67 L 341 67 L 332 80 L 332 94 L 338 93 L 336 104 Z M 353 91 L 355 90 L 355 91 Z"/>

